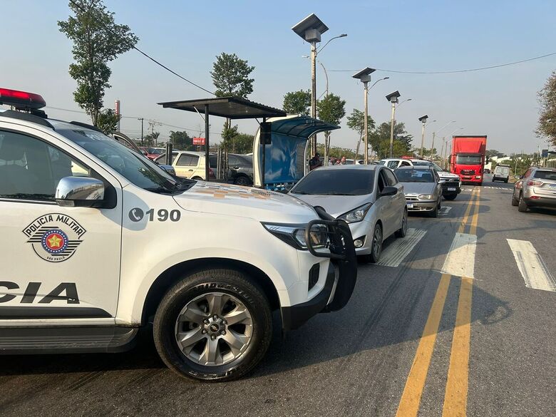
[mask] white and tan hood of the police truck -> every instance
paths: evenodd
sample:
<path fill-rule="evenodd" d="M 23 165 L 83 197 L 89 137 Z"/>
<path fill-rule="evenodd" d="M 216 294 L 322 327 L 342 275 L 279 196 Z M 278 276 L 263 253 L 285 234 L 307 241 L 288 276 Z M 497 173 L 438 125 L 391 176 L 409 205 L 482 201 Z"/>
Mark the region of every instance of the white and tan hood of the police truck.
<path fill-rule="evenodd" d="M 313 207 L 297 198 L 238 185 L 198 181 L 174 199 L 185 210 L 250 217 L 262 222 L 305 223 L 317 218 Z"/>

